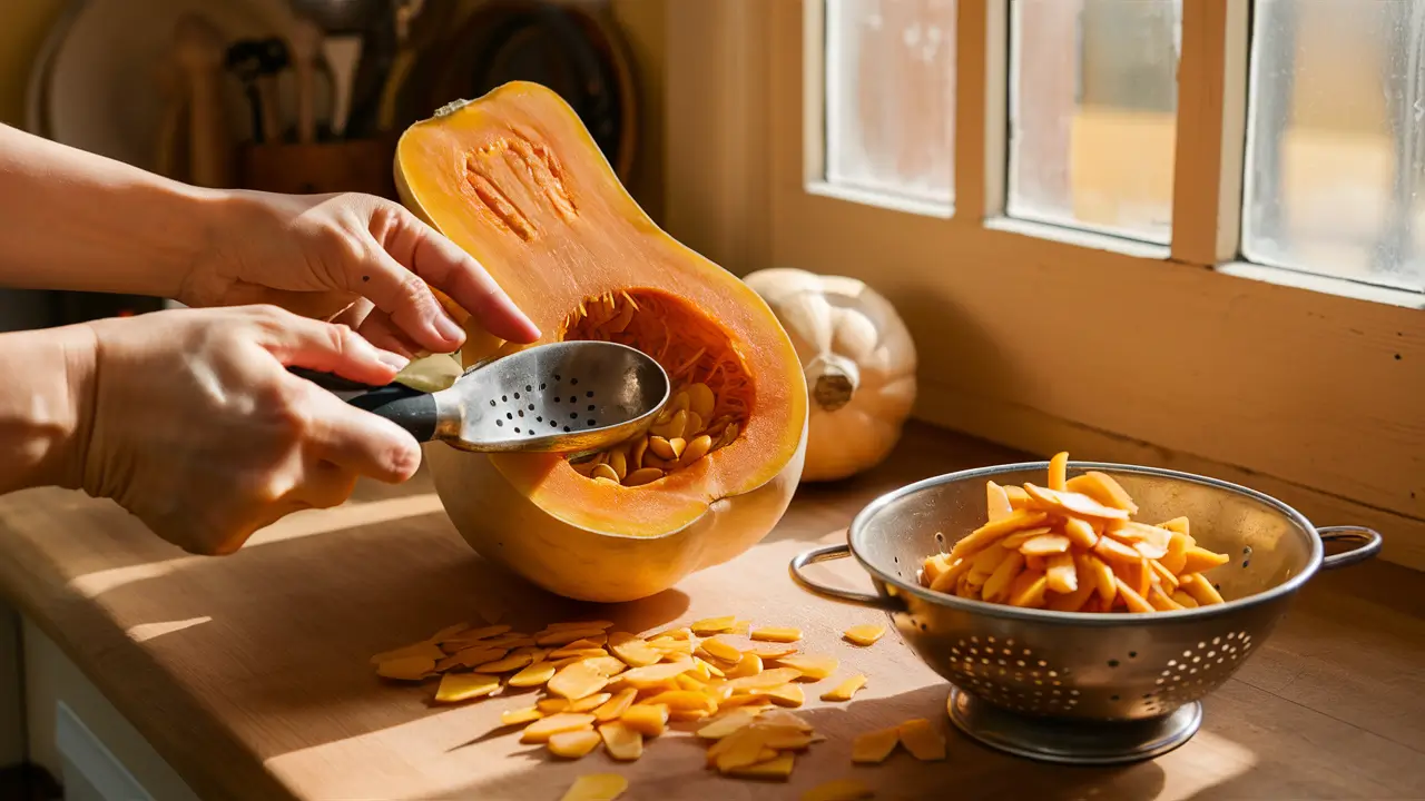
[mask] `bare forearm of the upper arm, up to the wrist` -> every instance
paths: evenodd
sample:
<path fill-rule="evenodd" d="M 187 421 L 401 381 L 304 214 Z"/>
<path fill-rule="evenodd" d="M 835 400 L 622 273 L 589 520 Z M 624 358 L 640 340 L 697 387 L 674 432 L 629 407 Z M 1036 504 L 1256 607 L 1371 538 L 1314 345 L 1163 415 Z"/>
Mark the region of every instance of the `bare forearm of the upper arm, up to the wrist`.
<path fill-rule="evenodd" d="M 171 298 L 221 198 L 0 125 L 0 285 Z"/>

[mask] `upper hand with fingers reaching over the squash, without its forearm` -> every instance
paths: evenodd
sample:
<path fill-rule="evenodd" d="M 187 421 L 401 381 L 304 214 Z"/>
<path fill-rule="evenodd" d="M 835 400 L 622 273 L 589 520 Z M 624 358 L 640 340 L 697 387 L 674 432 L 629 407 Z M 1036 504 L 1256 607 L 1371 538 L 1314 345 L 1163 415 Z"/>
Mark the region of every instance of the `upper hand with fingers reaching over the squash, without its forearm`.
<path fill-rule="evenodd" d="M 539 339 L 479 262 L 399 204 L 247 191 L 215 202 L 212 254 L 184 278 L 177 299 L 185 305 L 275 304 L 343 322 L 396 353 L 449 353 L 465 332 L 435 286 L 490 334 Z"/>

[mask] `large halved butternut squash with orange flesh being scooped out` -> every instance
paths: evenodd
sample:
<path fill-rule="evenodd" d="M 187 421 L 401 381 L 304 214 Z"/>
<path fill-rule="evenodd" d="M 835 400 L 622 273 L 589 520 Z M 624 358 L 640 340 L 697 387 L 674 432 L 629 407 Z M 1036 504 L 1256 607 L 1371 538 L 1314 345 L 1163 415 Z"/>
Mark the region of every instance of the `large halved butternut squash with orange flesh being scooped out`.
<path fill-rule="evenodd" d="M 755 292 L 654 225 L 557 94 L 516 81 L 416 123 L 398 145 L 396 184 L 412 211 L 490 271 L 542 342 L 623 342 L 657 358 L 675 391 L 703 383 L 715 399 L 675 453 L 660 442 L 640 465 L 631 445 L 583 465 L 428 446 L 446 510 L 476 550 L 556 593 L 614 601 L 667 589 L 765 536 L 805 448 L 807 389 L 791 341 Z M 465 363 L 517 348 L 460 316 L 472 334 Z M 705 453 L 691 445 L 697 433 L 710 438 Z M 594 469 L 611 459 L 617 477 L 638 486 Z"/>

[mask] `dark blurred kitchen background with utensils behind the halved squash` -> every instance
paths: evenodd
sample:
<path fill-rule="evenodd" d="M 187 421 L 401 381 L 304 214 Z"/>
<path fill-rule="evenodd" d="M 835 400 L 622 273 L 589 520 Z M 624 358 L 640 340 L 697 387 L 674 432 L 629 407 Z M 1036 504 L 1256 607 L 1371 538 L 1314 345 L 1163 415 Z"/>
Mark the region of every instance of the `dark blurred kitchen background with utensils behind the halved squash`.
<path fill-rule="evenodd" d="M 668 1 L 4 0 L 0 121 L 200 185 L 395 198 L 406 125 L 533 80 L 661 219 Z M 0 289 L 0 331 L 162 305 Z"/>

